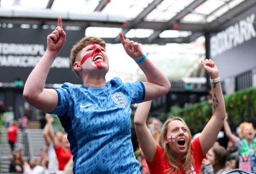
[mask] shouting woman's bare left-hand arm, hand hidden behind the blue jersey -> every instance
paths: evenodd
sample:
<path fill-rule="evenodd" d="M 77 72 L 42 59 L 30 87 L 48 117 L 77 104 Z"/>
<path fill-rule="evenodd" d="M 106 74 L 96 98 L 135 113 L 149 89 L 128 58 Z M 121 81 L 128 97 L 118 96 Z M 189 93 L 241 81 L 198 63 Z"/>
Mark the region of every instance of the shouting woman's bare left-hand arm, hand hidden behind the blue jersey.
<path fill-rule="evenodd" d="M 152 100 L 140 103 L 134 115 L 135 130 L 140 148 L 148 162 L 152 162 L 156 154 L 156 141 L 146 125 L 151 103 Z"/>

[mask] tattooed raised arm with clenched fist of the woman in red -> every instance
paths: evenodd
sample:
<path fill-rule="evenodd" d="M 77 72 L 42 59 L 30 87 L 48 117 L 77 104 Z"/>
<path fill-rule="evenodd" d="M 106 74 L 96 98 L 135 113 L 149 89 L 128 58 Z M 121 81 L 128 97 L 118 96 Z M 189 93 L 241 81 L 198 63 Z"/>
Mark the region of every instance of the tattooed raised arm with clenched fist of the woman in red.
<path fill-rule="evenodd" d="M 211 59 L 202 60 L 202 66 L 205 72 L 210 76 L 211 79 L 219 78 L 218 68 Z M 222 128 L 224 118 L 225 118 L 225 103 L 222 94 L 222 89 L 220 86 L 220 81 L 212 82 L 212 118 L 206 124 L 204 130 L 200 134 L 199 140 L 202 148 L 202 152 L 205 155 L 208 150 L 212 147 L 214 141 L 216 140 L 220 129 Z"/>

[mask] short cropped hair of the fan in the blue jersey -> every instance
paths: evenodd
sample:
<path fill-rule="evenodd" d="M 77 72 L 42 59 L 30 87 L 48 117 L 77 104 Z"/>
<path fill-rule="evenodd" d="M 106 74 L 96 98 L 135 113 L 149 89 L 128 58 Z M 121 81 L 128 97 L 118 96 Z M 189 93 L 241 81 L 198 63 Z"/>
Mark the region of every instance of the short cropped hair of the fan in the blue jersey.
<path fill-rule="evenodd" d="M 71 66 L 72 66 L 72 70 L 76 73 L 76 75 L 78 77 L 80 77 L 80 75 L 73 68 L 73 65 L 76 61 L 76 56 L 84 47 L 86 47 L 87 45 L 90 45 L 92 43 L 98 44 L 98 45 L 102 46 L 104 49 L 106 49 L 106 42 L 104 42 L 104 40 L 102 40 L 101 38 L 97 38 L 97 37 L 94 37 L 94 36 L 87 36 L 87 37 L 82 38 L 81 40 L 76 42 L 76 44 L 71 49 L 70 63 L 71 63 Z"/>

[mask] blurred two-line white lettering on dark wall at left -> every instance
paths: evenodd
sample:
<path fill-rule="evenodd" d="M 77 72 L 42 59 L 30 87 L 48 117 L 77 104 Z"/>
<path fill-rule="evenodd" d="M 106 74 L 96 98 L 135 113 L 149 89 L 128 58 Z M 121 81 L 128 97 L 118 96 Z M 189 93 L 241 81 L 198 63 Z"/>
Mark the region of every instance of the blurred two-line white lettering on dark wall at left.
<path fill-rule="evenodd" d="M 42 44 L 0 43 L 0 66 L 35 67 L 44 52 Z M 70 68 L 70 59 L 57 57 L 52 68 Z"/>

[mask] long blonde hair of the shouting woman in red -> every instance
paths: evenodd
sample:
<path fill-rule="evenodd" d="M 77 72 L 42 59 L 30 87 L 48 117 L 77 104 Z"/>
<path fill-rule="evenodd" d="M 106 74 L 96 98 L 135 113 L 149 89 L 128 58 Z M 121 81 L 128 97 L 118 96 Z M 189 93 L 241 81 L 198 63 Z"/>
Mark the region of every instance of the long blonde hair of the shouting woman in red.
<path fill-rule="evenodd" d="M 170 149 L 168 143 L 166 143 L 168 125 L 173 120 L 181 121 L 186 126 L 186 129 L 188 130 L 188 135 L 189 135 L 188 148 L 186 153 L 182 156 L 181 161 L 178 160 L 178 158 L 175 158 L 176 157 L 175 153 Z M 169 173 L 173 172 L 178 174 L 181 168 L 185 172 L 191 170 L 194 163 L 193 156 L 191 154 L 191 142 L 192 142 L 192 135 L 191 135 L 190 129 L 188 128 L 188 126 L 186 125 L 186 123 L 182 118 L 171 116 L 170 118 L 168 118 L 168 120 L 166 120 L 166 122 L 163 125 L 162 131 L 160 133 L 159 145 L 164 150 L 164 154 L 166 155 L 168 163 L 170 164 L 170 166 L 172 166 L 170 169 L 168 169 Z"/>

